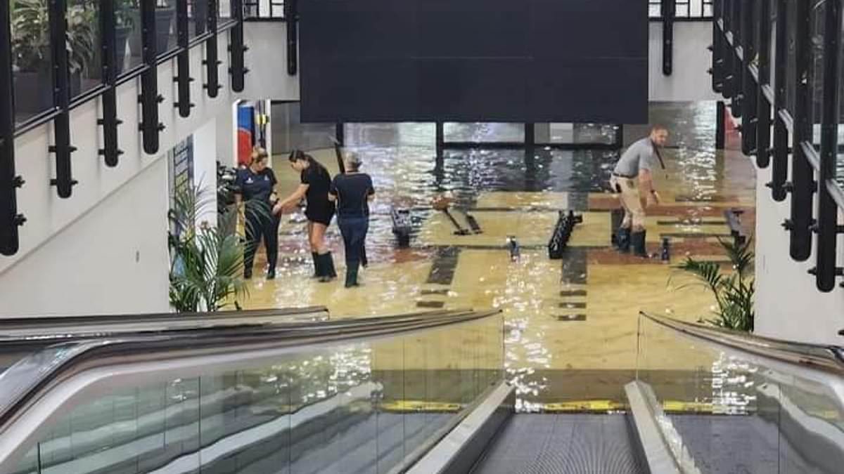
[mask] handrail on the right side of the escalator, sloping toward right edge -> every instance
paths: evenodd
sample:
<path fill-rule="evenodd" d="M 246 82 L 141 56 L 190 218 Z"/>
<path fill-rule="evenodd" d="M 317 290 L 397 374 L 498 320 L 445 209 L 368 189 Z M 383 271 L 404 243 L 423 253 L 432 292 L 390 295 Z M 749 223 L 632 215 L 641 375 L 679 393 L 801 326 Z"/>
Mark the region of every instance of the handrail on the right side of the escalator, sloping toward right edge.
<path fill-rule="evenodd" d="M 756 336 L 746 332 L 733 331 L 716 326 L 702 326 L 675 320 L 662 315 L 650 315 L 642 311 L 641 316 L 660 326 L 684 333 L 696 339 L 714 342 L 718 345 L 739 349 L 787 364 L 823 370 L 830 374 L 844 376 L 844 348 L 832 345 L 809 344 L 785 341 L 772 337 Z"/>

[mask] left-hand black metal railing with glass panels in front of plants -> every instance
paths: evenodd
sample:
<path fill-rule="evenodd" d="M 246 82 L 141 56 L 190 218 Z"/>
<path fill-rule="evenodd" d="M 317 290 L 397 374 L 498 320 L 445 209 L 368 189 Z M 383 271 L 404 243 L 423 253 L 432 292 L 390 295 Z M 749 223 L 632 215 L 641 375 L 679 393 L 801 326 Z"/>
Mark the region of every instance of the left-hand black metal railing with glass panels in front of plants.
<path fill-rule="evenodd" d="M 221 11 L 225 4 L 232 11 Z M 51 185 L 59 197 L 73 194 L 73 135 L 70 112 L 102 98 L 98 125 L 105 164 L 116 166 L 123 154 L 118 143 L 116 88 L 141 78 L 140 132 L 143 150 L 159 153 L 159 94 L 156 68 L 177 58 L 180 116 L 190 115 L 191 77 L 187 51 L 205 46 L 208 94 L 216 96 L 219 81 L 216 39 L 242 27 L 240 0 L 18 0 L 0 5 L 0 254 L 14 255 L 19 247 L 16 190 L 24 179 L 16 175 L 15 137 L 52 123 L 49 152 L 55 156 Z M 246 73 L 242 30 L 236 30 L 233 88 L 243 89 Z M 42 38 L 47 38 L 47 44 Z"/>

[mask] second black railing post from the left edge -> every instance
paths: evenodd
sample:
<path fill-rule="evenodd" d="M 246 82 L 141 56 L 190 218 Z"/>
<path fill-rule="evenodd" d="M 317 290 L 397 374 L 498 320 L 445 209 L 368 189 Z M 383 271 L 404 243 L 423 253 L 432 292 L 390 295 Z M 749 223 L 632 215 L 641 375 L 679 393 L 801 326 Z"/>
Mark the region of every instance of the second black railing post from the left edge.
<path fill-rule="evenodd" d="M 56 155 L 56 178 L 50 181 L 56 186 L 58 197 L 70 197 L 73 186 L 71 155 L 76 148 L 70 144 L 70 68 L 68 67 L 68 11 L 67 0 L 51 0 L 50 5 L 50 46 L 53 62 L 54 104 L 58 115 L 53 119 L 55 143 L 50 153 Z"/>

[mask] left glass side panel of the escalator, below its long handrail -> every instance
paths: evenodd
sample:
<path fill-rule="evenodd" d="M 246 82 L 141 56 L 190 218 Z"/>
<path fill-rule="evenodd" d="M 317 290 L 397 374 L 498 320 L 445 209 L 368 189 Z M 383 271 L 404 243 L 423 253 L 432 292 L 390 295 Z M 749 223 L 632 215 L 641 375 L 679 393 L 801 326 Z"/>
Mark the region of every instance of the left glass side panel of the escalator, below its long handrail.
<path fill-rule="evenodd" d="M 0 455 L 0 472 L 390 471 L 500 383 L 503 347 L 494 315 L 236 369 L 94 381 Z"/>

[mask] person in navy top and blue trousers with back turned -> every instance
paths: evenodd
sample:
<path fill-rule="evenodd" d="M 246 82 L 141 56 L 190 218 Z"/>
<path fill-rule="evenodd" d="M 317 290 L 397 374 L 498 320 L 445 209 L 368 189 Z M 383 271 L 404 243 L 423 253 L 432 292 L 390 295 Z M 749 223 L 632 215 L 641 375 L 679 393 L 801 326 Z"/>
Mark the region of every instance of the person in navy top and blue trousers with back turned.
<path fill-rule="evenodd" d="M 337 201 L 337 223 L 346 249 L 346 288 L 358 286 L 358 269 L 365 258 L 369 202 L 375 197 L 370 175 L 360 172 L 357 154 L 346 154 L 346 172 L 334 177 L 328 198 Z"/>

